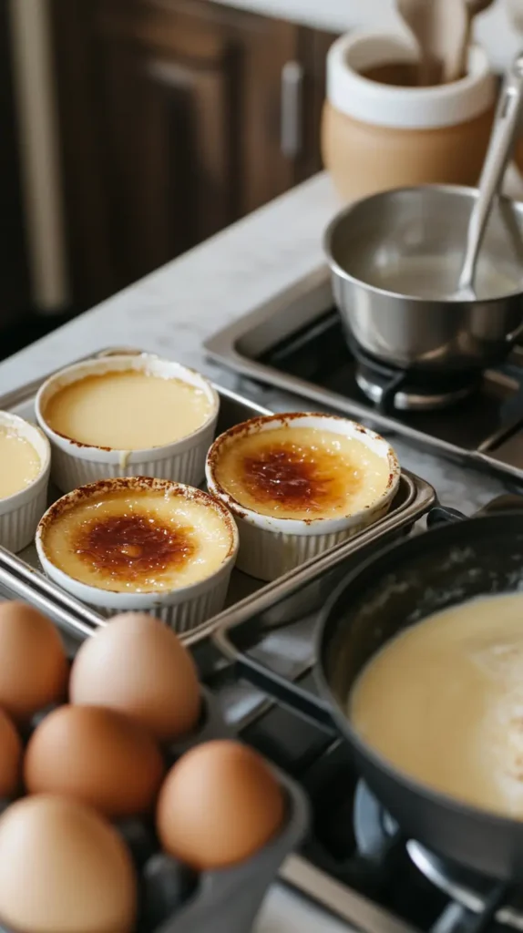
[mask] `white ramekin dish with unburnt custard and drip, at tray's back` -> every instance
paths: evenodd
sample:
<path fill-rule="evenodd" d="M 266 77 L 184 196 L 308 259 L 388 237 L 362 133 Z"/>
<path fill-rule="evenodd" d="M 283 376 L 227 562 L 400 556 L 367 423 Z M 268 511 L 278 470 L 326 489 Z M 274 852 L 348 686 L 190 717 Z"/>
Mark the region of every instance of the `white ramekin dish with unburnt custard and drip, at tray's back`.
<path fill-rule="evenodd" d="M 62 437 L 49 427 L 44 417 L 46 405 L 65 385 L 86 376 L 131 369 L 146 371 L 163 379 L 179 379 L 199 388 L 211 402 L 207 420 L 185 438 L 137 451 L 82 444 Z M 204 476 L 205 455 L 213 442 L 219 406 L 220 400 L 213 386 L 199 372 L 153 354 L 107 356 L 61 369 L 42 385 L 35 402 L 38 424 L 51 443 L 51 477 L 63 493 L 89 482 L 122 476 L 155 476 L 198 486 Z"/>

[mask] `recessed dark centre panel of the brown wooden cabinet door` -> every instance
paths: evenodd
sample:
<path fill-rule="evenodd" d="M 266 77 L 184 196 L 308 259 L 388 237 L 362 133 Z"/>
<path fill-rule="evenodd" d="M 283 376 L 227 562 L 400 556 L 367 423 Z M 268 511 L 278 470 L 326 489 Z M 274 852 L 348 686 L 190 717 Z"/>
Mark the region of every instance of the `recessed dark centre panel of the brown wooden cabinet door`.
<path fill-rule="evenodd" d="M 103 169 L 121 282 L 155 269 L 236 216 L 234 62 L 219 37 L 103 12 Z M 147 27 L 147 28 L 146 28 Z M 156 40 L 156 41 L 155 41 Z M 186 54 L 176 48 L 177 43 Z"/>

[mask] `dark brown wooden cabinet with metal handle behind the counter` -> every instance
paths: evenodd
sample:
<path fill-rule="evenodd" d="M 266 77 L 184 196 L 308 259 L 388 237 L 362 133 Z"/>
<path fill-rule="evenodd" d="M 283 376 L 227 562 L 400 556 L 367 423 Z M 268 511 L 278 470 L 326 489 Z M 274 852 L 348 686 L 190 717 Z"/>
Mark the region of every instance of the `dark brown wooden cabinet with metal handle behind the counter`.
<path fill-rule="evenodd" d="M 321 167 L 332 35 L 210 0 L 52 0 L 70 265 L 91 303 Z"/>

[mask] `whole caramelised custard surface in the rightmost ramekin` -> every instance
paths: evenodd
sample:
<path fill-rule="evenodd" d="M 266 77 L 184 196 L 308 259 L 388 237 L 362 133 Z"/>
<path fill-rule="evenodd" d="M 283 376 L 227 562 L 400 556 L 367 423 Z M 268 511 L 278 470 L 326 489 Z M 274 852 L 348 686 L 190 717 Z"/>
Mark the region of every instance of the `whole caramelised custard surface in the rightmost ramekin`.
<path fill-rule="evenodd" d="M 214 468 L 221 488 L 244 508 L 306 521 L 355 514 L 390 480 L 387 457 L 362 441 L 301 426 L 228 439 Z"/>

